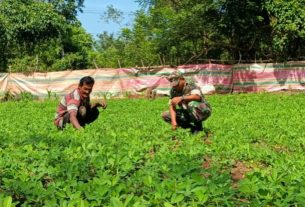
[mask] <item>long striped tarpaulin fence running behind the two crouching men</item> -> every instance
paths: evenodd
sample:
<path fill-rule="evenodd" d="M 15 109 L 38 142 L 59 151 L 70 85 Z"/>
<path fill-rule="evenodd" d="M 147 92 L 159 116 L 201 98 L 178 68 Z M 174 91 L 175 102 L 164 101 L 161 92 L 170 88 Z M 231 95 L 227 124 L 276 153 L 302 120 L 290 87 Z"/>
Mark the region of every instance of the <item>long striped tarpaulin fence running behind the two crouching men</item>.
<path fill-rule="evenodd" d="M 182 65 L 178 68 L 120 68 L 87 69 L 48 73 L 0 73 L 0 93 L 28 92 L 38 97 L 51 93 L 63 95 L 77 87 L 83 76 L 92 76 L 96 83 L 92 95 L 123 96 L 154 89 L 157 94 L 168 94 L 166 77 L 174 70 L 184 70 L 203 93 L 272 92 L 305 89 L 305 63 L 277 64 L 200 64 Z"/>

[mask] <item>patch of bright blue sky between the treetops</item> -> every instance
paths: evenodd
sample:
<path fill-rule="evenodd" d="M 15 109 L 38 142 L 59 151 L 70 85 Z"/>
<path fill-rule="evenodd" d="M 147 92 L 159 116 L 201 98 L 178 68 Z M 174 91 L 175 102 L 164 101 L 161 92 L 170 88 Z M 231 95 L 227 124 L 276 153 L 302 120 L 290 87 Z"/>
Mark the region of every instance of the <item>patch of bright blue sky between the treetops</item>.
<path fill-rule="evenodd" d="M 110 5 L 123 12 L 124 20 L 121 25 L 113 22 L 107 23 L 101 19 Z M 85 0 L 83 13 L 78 14 L 78 19 L 86 31 L 96 38 L 98 34 L 104 31 L 117 34 L 120 28 L 131 26 L 134 17 L 133 12 L 138 8 L 138 4 L 134 0 Z"/>

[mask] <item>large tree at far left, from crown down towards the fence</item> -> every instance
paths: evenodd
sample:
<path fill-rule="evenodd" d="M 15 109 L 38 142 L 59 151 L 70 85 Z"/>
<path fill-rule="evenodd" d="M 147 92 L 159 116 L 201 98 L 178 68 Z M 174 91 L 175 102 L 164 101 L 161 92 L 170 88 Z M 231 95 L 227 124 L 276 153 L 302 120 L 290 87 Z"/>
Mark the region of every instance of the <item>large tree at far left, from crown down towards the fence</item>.
<path fill-rule="evenodd" d="M 35 45 L 60 36 L 66 25 L 52 5 L 31 0 L 1 1 L 0 21 L 3 69 L 13 54 L 32 53 Z"/>

